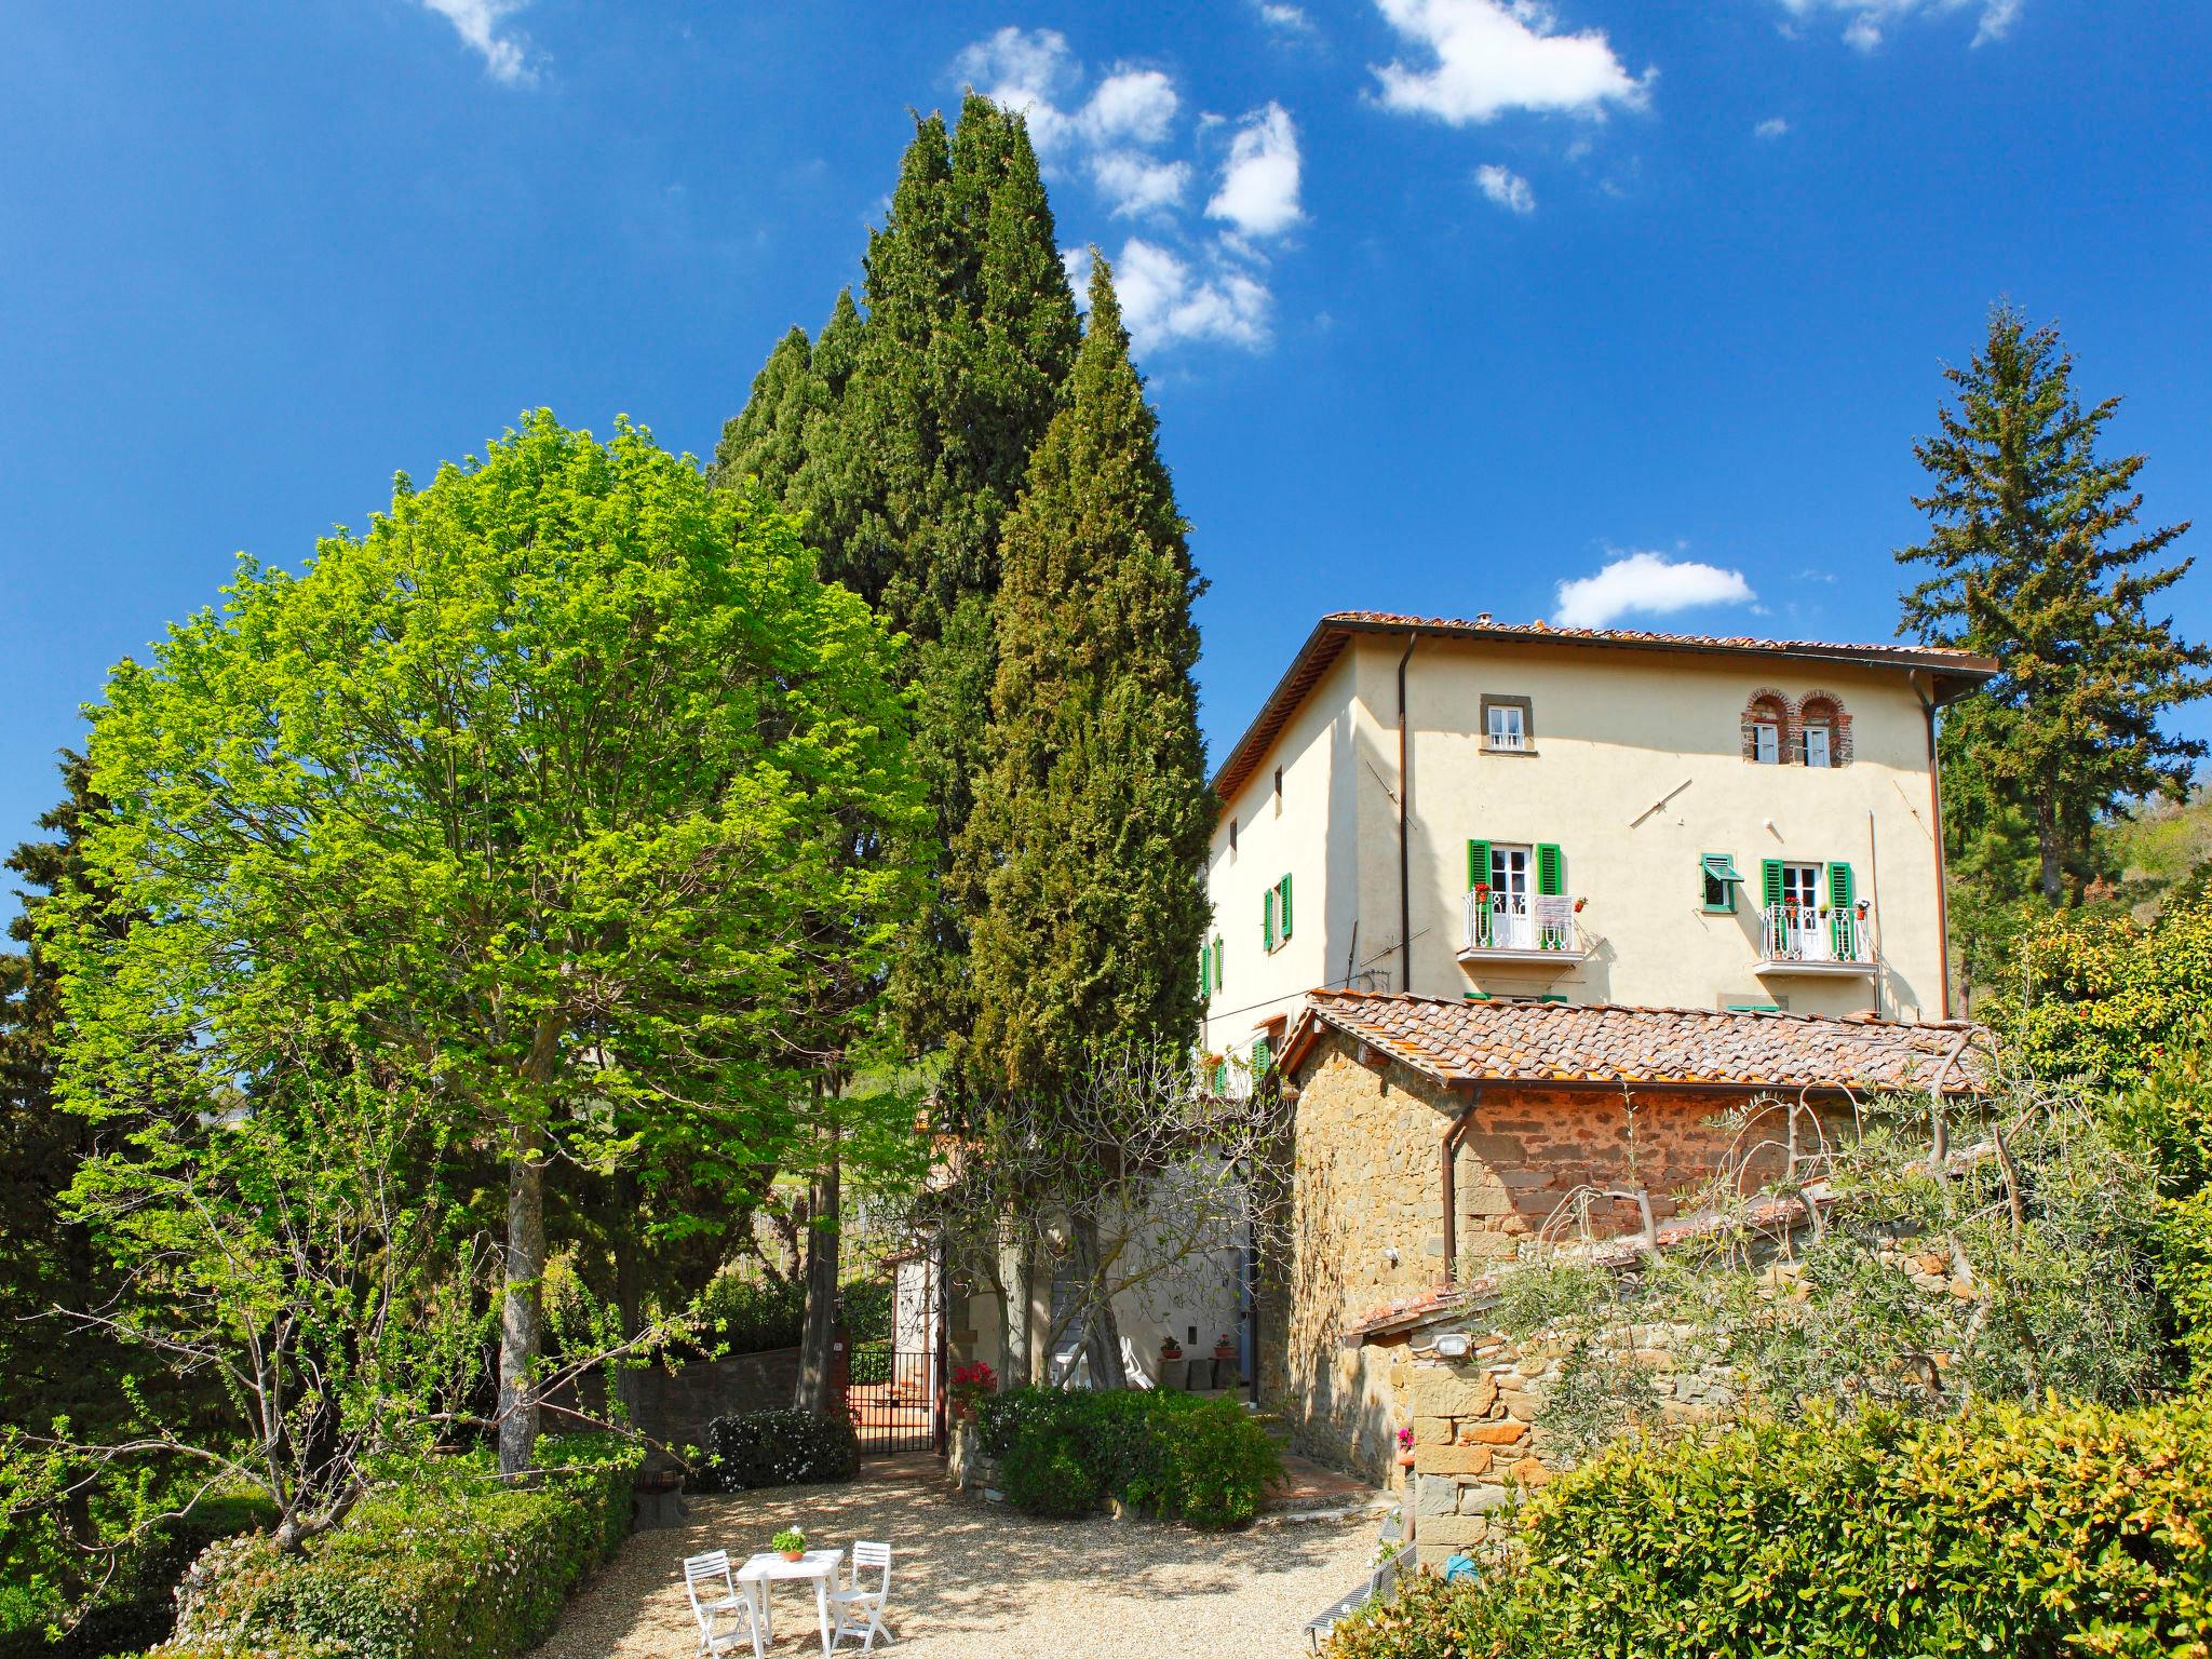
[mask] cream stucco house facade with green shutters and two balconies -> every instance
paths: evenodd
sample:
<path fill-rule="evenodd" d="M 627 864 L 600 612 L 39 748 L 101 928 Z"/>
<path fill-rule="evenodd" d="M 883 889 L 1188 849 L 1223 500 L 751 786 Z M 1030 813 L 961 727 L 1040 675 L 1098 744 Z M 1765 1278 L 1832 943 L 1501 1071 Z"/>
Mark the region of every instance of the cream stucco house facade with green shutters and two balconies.
<path fill-rule="evenodd" d="M 1986 670 L 1329 617 L 1217 779 L 1206 1046 L 1248 1057 L 1314 987 L 1944 1018 L 1929 706 Z"/>

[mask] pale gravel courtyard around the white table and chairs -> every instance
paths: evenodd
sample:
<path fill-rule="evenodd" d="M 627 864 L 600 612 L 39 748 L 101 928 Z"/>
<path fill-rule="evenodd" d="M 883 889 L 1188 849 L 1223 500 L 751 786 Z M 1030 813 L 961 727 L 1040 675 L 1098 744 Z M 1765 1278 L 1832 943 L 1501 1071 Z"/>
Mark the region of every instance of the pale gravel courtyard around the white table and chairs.
<path fill-rule="evenodd" d="M 1374 1564 L 1374 1520 L 1192 1533 L 1152 1522 L 1046 1522 L 960 1498 L 940 1464 L 849 1486 L 690 1498 L 679 1528 L 637 1533 L 568 1606 L 535 1659 L 688 1659 L 699 1632 L 681 1559 L 750 1555 L 796 1522 L 818 1546 L 891 1546 L 896 1659 L 1199 1659 L 1305 1652 L 1305 1621 Z M 818 1655 L 814 1597 L 776 1590 L 776 1655 Z M 838 1646 L 858 1652 L 856 1641 Z"/>

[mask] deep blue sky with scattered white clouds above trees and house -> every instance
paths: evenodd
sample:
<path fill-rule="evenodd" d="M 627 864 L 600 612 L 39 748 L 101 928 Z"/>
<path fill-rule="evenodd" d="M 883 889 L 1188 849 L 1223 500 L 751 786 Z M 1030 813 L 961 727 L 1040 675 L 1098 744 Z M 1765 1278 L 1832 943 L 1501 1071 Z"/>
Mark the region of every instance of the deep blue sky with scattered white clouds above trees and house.
<path fill-rule="evenodd" d="M 1217 754 L 1332 608 L 1889 637 L 1911 438 L 2004 294 L 2212 538 L 2203 0 L 9 20 L 7 845 L 234 551 L 296 564 L 524 407 L 708 453 L 964 80 L 1121 268 Z M 2212 635 L 2212 573 L 2174 611 Z"/>

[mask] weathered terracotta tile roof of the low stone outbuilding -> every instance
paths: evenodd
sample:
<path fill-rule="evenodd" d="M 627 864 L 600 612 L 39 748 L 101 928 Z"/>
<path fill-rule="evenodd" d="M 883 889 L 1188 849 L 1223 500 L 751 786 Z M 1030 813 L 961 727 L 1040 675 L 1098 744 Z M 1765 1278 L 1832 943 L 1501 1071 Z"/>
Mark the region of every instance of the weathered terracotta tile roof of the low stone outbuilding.
<path fill-rule="evenodd" d="M 1814 1013 L 1626 1009 L 1566 1002 L 1444 1002 L 1380 991 L 1310 991 L 1283 1042 L 1296 1073 L 1323 1026 L 1444 1084 L 1663 1084 L 1971 1095 L 1980 1026 L 1836 1020 Z"/>

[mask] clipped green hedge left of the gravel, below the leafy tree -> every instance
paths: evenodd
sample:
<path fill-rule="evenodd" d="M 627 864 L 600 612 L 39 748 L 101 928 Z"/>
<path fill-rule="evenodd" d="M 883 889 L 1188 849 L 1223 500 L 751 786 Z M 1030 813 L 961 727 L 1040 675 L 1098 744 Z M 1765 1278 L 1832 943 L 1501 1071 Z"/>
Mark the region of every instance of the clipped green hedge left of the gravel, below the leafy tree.
<path fill-rule="evenodd" d="M 538 1646 L 628 1535 L 639 1453 L 564 1436 L 538 1455 L 531 1486 L 502 1486 L 478 1460 L 409 1469 L 292 1557 L 265 1535 L 217 1544 L 177 1637 L 153 1652 L 511 1659 Z"/>

